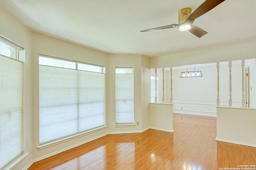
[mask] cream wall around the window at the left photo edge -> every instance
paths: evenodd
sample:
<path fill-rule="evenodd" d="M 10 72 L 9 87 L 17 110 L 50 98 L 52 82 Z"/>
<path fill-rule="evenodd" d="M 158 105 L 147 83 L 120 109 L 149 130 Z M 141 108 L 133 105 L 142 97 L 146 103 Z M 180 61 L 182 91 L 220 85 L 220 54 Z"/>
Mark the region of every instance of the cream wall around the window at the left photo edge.
<path fill-rule="evenodd" d="M 24 112 L 24 151 L 28 153 L 26 158 L 14 167 L 21 170 L 32 164 L 32 66 L 31 66 L 31 31 L 22 23 L 13 18 L 0 6 L 0 35 L 14 41 L 25 48 L 23 71 L 23 112 Z M 13 165 L 13 164 L 12 164 Z"/>

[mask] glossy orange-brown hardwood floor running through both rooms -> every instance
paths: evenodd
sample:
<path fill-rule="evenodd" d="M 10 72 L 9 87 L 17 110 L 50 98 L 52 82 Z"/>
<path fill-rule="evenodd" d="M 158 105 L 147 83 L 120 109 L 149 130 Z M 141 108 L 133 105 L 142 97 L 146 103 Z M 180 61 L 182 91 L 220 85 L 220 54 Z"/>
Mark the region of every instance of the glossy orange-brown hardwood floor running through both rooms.
<path fill-rule="evenodd" d="M 219 170 L 256 164 L 256 148 L 215 138 L 216 117 L 174 113 L 174 133 L 106 135 L 29 170 Z"/>

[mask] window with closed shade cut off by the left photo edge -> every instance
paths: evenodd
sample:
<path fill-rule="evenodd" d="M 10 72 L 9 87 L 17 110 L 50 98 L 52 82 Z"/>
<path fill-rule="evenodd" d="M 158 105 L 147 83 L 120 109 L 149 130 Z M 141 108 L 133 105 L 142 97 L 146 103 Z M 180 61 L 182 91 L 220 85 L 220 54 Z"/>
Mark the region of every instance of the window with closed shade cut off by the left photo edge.
<path fill-rule="evenodd" d="M 0 36 L 0 168 L 23 153 L 22 47 Z"/>

